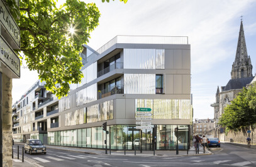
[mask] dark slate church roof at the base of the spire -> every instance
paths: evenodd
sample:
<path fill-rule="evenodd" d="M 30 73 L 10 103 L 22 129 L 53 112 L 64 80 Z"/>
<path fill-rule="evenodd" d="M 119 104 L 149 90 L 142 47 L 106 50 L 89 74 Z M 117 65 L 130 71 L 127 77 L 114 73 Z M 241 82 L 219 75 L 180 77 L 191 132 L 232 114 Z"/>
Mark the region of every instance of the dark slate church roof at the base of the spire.
<path fill-rule="evenodd" d="M 229 91 L 232 89 L 242 89 L 243 87 L 247 86 L 247 84 L 249 84 L 253 78 L 254 76 L 247 78 L 230 79 L 230 81 L 228 81 L 228 84 L 226 84 L 223 91 Z"/>

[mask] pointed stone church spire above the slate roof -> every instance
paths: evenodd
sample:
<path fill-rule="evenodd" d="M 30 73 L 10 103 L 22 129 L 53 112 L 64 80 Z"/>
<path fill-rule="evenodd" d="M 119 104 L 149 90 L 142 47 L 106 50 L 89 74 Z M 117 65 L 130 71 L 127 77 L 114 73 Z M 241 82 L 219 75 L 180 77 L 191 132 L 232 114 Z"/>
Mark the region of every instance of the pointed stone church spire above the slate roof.
<path fill-rule="evenodd" d="M 237 54 L 232 65 L 231 79 L 252 77 L 252 63 L 250 56 L 248 57 L 247 48 L 245 44 L 245 34 L 243 32 L 243 21 L 241 19 Z"/>

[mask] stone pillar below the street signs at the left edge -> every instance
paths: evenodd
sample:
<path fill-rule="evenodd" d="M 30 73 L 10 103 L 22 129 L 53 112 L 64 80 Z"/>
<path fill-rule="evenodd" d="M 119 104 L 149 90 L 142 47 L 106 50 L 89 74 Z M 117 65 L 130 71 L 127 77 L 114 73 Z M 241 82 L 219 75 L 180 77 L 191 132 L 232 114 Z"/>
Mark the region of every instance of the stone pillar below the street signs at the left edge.
<path fill-rule="evenodd" d="M 11 146 L 13 145 L 12 136 L 12 124 L 11 114 L 13 110 L 11 108 L 12 96 L 11 90 L 13 88 L 13 80 L 8 78 L 5 74 L 2 74 L 2 126 L 3 126 L 3 166 L 13 166 L 11 159 Z"/>

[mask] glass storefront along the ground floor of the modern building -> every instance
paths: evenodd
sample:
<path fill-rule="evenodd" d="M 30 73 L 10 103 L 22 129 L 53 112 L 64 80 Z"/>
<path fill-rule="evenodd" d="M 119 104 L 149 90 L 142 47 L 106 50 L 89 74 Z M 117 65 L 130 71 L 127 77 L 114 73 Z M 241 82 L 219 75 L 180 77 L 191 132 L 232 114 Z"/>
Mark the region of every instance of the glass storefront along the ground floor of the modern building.
<path fill-rule="evenodd" d="M 178 128 L 178 132 L 175 132 Z M 135 125 L 108 126 L 111 149 L 140 149 L 153 150 L 153 138 L 156 136 L 155 149 L 187 149 L 189 142 L 188 125 L 157 125 L 156 129 L 136 129 Z M 84 148 L 105 148 L 106 132 L 101 126 L 72 129 L 66 131 L 48 132 L 48 144 L 58 146 L 74 146 Z M 178 141 L 178 142 L 177 142 Z"/>

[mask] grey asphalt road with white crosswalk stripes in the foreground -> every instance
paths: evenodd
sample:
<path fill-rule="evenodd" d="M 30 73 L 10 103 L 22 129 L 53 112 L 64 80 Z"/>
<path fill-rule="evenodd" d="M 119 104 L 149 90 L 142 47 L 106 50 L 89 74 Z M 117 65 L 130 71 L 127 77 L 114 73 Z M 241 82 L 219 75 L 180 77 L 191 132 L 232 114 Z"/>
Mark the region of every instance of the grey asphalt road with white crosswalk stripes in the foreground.
<path fill-rule="evenodd" d="M 14 153 L 17 152 L 17 144 Z M 23 146 L 23 145 L 20 145 Z M 221 149 L 211 148 L 212 155 L 203 156 L 130 156 L 96 155 L 47 149 L 47 154 L 25 154 L 25 159 L 41 166 L 256 166 L 256 149 L 221 143 Z M 19 155 L 21 157 L 21 153 Z"/>

